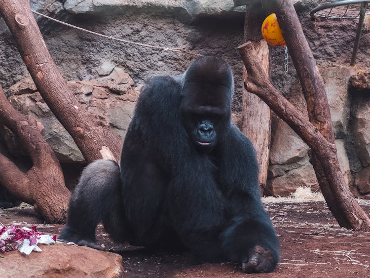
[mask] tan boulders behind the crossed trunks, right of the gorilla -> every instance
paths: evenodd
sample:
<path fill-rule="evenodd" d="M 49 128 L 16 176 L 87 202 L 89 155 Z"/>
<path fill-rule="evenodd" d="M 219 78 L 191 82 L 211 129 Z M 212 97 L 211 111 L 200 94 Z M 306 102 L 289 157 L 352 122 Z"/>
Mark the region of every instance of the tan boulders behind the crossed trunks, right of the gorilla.
<path fill-rule="evenodd" d="M 327 67 L 320 72 L 325 83 L 329 107 L 332 115 L 337 156 L 345 180 L 351 181 L 351 171 L 345 140 L 348 134 L 351 105 L 348 99 L 348 80 L 355 74 L 352 68 Z M 291 88 L 288 96 L 304 117 L 308 119 L 303 93 L 299 84 Z M 370 114 L 369 114 L 370 115 Z M 308 146 L 281 119 L 272 124 L 270 165 L 265 195 L 288 196 L 299 186 L 318 189 L 318 182 L 307 155 Z M 370 161 L 370 160 L 369 160 Z"/>

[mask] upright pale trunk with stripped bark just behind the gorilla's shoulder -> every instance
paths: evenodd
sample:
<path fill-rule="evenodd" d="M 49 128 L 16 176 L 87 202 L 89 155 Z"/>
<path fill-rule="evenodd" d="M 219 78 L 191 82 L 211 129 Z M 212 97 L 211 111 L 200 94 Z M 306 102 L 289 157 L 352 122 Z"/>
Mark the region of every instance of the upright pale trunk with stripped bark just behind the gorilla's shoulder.
<path fill-rule="evenodd" d="M 261 67 L 268 76 L 268 46 L 261 36 L 261 25 L 265 18 L 265 11 L 260 3 L 250 4 L 244 21 L 244 41 L 251 41 L 261 60 Z M 243 67 L 243 82 L 247 79 Z M 270 148 L 270 108 L 256 95 L 243 87 L 242 97 L 242 124 L 241 131 L 255 147 L 259 162 L 259 185 L 261 193 L 266 187 L 267 168 Z"/>

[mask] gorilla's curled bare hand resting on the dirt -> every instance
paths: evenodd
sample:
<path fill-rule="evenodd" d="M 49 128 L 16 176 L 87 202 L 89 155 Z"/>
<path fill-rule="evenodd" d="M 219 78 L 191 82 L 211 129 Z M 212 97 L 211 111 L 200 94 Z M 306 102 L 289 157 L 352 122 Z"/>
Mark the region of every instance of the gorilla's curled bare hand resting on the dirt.
<path fill-rule="evenodd" d="M 276 260 L 270 251 L 256 245 L 247 262 L 242 263 L 244 273 L 267 273 L 274 270 Z"/>

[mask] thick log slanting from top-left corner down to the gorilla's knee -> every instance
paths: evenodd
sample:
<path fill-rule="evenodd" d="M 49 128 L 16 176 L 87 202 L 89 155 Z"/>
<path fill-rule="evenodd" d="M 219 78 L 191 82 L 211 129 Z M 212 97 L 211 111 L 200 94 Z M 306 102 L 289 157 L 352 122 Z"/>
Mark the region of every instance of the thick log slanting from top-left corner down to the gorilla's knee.
<path fill-rule="evenodd" d="M 102 153 L 108 151 L 118 160 L 122 141 L 109 123 L 88 113 L 67 87 L 42 39 L 29 0 L 0 0 L 0 13 L 42 98 L 71 134 L 84 158 L 91 162 L 103 158 Z"/>

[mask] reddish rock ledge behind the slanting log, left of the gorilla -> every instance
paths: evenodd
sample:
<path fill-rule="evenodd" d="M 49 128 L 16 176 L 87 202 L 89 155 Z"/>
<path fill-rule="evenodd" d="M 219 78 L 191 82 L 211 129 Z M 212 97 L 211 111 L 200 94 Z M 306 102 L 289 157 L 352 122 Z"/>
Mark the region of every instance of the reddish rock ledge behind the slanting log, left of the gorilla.
<path fill-rule="evenodd" d="M 106 72 L 108 73 L 108 71 Z M 134 81 L 122 69 L 114 68 L 110 75 L 89 81 L 68 82 L 78 101 L 92 114 L 111 123 L 113 130 L 124 138 L 135 109 L 138 92 Z M 43 101 L 32 79 L 27 78 L 11 86 L 8 98 L 12 106 L 23 114 L 30 115 L 44 126 L 42 135 L 53 148 L 61 162 L 82 162 L 84 158 L 71 135 L 55 118 Z M 11 153 L 18 146 L 10 144 Z"/>

